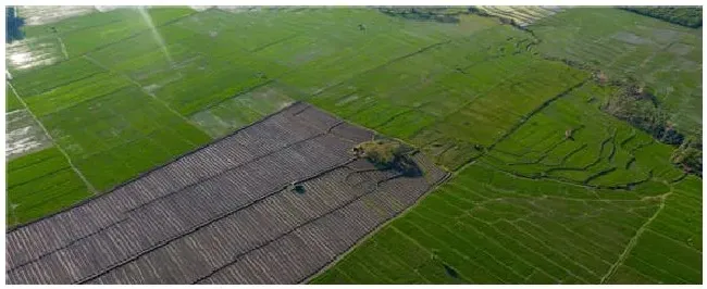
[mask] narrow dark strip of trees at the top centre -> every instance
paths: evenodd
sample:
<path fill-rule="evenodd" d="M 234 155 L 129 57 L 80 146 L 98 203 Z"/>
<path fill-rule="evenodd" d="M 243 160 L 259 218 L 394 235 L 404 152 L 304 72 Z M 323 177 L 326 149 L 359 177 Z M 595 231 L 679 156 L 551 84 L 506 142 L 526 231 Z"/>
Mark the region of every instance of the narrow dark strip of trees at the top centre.
<path fill-rule="evenodd" d="M 444 7 L 381 7 L 379 11 L 397 17 L 417 21 L 436 21 L 443 23 L 458 23 L 460 14 L 470 14 L 469 9 L 452 9 Z"/>

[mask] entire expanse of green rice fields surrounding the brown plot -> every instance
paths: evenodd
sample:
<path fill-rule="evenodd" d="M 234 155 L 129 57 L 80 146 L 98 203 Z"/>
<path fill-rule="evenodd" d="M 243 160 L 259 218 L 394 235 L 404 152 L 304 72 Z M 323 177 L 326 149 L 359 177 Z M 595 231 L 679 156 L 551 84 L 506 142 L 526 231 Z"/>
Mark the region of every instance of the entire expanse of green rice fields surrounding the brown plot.
<path fill-rule="evenodd" d="M 680 131 L 702 134 L 702 28 L 612 8 L 480 9 L 491 16 L 441 23 L 363 8 L 18 8 L 32 22 L 5 46 L 7 225 L 303 101 L 452 175 L 307 281 L 700 284 L 702 178 L 600 111 L 615 88 L 592 74 L 640 78 Z"/>

